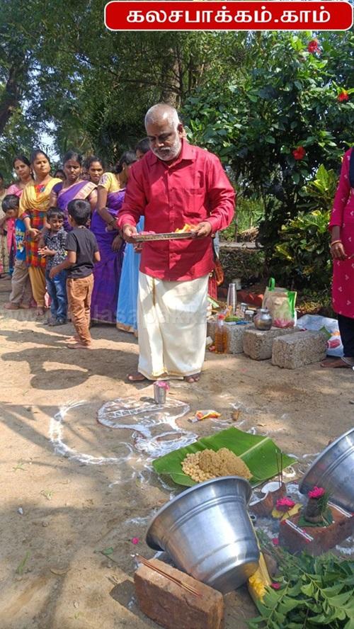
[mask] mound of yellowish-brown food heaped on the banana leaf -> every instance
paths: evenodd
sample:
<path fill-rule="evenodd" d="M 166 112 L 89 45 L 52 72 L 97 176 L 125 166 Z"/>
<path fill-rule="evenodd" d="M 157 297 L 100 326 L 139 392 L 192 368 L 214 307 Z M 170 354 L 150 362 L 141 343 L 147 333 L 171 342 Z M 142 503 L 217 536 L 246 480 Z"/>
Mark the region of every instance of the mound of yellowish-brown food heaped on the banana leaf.
<path fill-rule="evenodd" d="M 202 450 L 188 454 L 181 463 L 183 472 L 195 482 L 203 482 L 219 476 L 241 476 L 250 479 L 252 474 L 246 463 L 229 450 Z"/>

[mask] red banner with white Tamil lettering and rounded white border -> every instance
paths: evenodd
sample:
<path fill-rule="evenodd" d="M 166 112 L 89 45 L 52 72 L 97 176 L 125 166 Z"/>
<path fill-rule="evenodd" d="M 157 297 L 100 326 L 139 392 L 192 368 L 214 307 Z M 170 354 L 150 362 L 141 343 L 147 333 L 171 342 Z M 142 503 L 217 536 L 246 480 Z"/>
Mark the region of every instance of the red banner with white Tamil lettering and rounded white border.
<path fill-rule="evenodd" d="M 110 30 L 348 30 L 349 2 L 125 1 L 108 2 Z"/>

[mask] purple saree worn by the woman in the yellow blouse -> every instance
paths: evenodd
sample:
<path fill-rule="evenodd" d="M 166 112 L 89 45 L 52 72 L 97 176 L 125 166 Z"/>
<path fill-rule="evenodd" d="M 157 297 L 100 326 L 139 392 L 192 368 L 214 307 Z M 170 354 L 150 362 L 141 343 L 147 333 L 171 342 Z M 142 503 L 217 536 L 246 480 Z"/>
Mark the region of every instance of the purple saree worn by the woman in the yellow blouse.
<path fill-rule="evenodd" d="M 118 216 L 122 207 L 124 195 L 125 190 L 108 193 L 106 209 L 114 218 Z M 119 251 L 112 251 L 112 243 L 118 236 L 118 229 L 107 232 L 106 227 L 107 223 L 97 210 L 93 212 L 91 232 L 96 236 L 101 262 L 96 263 L 93 270 L 95 283 L 91 297 L 91 319 L 115 324 L 125 244 L 122 244 Z"/>

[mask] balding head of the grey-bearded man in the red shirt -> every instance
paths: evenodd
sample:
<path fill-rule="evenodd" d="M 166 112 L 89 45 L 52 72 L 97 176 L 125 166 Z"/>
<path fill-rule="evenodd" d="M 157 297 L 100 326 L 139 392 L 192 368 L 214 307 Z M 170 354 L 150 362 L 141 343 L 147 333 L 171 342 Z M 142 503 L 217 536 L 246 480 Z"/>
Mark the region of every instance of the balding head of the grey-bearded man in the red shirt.
<path fill-rule="evenodd" d="M 145 128 L 150 149 L 156 157 L 163 162 L 171 162 L 178 157 L 182 148 L 183 125 L 174 107 L 165 103 L 150 107 L 145 116 Z"/>

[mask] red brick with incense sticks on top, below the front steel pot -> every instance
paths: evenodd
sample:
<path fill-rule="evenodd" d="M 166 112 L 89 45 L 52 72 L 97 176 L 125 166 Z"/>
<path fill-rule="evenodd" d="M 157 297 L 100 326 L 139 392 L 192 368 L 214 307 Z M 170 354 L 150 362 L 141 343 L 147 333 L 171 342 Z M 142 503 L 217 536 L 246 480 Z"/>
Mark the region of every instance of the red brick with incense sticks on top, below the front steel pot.
<path fill-rule="evenodd" d="M 222 594 L 157 559 L 156 567 L 197 589 L 202 596 L 190 594 L 170 579 L 140 566 L 135 572 L 135 591 L 139 608 L 166 629 L 222 629 L 224 599 Z"/>

